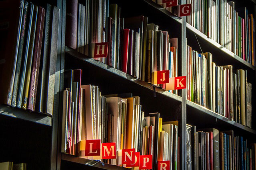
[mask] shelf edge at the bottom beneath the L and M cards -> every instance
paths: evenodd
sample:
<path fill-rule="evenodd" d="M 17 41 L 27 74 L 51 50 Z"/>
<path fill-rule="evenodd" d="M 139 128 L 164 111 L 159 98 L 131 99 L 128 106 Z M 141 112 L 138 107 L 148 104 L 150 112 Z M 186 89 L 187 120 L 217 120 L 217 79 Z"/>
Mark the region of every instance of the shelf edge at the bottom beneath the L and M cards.
<path fill-rule="evenodd" d="M 96 160 L 89 160 L 89 159 L 85 159 L 85 158 L 81 158 L 81 157 L 77 157 L 77 156 L 73 156 L 65 153 L 61 154 L 61 160 L 66 160 L 66 161 L 74 162 L 78 164 L 84 164 L 87 166 L 93 166 L 93 167 L 105 169 L 105 170 L 127 170 L 128 169 L 120 166 L 104 164 Z"/>

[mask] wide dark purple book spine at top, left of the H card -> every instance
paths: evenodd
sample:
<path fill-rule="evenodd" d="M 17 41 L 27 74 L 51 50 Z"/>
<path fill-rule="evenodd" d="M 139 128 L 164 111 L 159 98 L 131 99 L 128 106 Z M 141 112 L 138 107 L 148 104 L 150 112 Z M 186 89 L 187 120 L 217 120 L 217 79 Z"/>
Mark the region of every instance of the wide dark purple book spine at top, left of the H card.
<path fill-rule="evenodd" d="M 76 49 L 78 0 L 66 1 L 66 46 Z"/>

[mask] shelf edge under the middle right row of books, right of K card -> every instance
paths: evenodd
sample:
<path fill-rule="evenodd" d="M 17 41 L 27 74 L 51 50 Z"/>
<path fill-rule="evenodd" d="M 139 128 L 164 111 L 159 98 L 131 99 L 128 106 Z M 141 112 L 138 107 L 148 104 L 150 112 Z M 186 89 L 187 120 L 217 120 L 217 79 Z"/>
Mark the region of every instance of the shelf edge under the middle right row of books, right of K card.
<path fill-rule="evenodd" d="M 240 128 L 241 130 L 245 130 L 246 132 L 250 132 L 251 134 L 256 135 L 256 130 L 253 130 L 247 126 L 244 126 L 240 123 L 235 122 L 234 120 L 230 120 L 220 114 L 217 114 L 216 112 L 213 112 L 212 110 L 209 110 L 208 108 L 205 108 L 204 106 L 201 106 L 199 104 L 196 104 L 194 102 L 191 102 L 190 100 L 187 100 L 187 105 L 200 111 L 203 112 L 204 114 L 208 114 L 210 116 L 213 116 L 214 118 L 217 118 L 218 120 L 222 120 L 232 126 L 236 126 L 237 128 Z M 188 109 L 187 109 L 188 110 Z"/>

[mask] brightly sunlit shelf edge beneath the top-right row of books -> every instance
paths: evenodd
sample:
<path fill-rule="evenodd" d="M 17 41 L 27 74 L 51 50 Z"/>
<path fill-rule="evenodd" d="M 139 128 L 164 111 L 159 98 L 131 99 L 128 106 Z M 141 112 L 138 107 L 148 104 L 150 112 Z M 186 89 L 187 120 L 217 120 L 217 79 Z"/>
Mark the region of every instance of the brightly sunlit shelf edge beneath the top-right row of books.
<path fill-rule="evenodd" d="M 235 60 L 237 60 L 238 62 L 244 64 L 245 66 L 247 66 L 248 68 L 251 68 L 252 70 L 256 70 L 256 67 L 253 66 L 252 64 L 250 64 L 249 62 L 243 60 L 242 58 L 240 58 L 239 56 L 237 56 L 236 54 L 234 54 L 233 52 L 231 52 L 230 50 L 226 49 L 225 47 L 223 47 L 222 45 L 220 45 L 218 42 L 215 42 L 214 40 L 212 40 L 211 38 L 208 38 L 205 34 L 203 34 L 202 32 L 200 32 L 199 30 L 197 30 L 196 28 L 194 28 L 193 26 L 191 26 L 190 24 L 186 24 L 187 25 L 187 29 L 194 32 L 197 36 L 200 36 L 202 39 L 204 39 L 205 41 L 207 41 L 208 43 L 212 44 L 212 46 L 214 46 L 215 48 L 220 49 L 222 52 L 226 53 L 228 56 L 234 58 Z"/>

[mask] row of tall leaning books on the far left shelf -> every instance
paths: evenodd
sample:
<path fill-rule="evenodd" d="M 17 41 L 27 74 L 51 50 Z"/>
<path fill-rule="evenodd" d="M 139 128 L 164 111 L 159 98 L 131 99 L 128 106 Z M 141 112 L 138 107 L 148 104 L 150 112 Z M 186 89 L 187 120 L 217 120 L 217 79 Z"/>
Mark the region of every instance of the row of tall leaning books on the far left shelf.
<path fill-rule="evenodd" d="M 7 42 L 1 42 L 1 103 L 52 115 L 60 10 L 17 3 L 1 6 L 10 17 L 10 26 L 1 29 L 1 41 Z"/>

